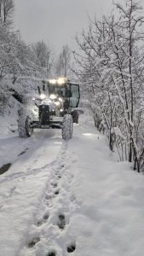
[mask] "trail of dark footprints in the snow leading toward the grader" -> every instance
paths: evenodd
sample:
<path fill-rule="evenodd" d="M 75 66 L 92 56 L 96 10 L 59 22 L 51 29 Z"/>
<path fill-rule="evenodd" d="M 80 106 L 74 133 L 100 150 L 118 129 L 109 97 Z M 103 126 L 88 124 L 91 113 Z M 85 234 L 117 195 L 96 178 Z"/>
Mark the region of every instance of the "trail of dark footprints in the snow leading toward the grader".
<path fill-rule="evenodd" d="M 44 201 L 43 204 L 46 205 L 48 207 L 48 210 L 53 207 L 54 204 L 54 199 L 56 196 L 58 196 L 60 194 L 60 189 L 58 187 L 58 183 L 60 181 L 60 179 L 62 178 L 62 173 L 63 170 L 65 168 L 65 164 L 61 164 L 61 161 L 63 162 L 66 158 L 66 150 L 64 150 L 62 152 L 61 158 L 59 160 L 60 162 L 60 168 L 58 168 L 58 170 L 55 170 L 54 173 L 54 179 L 53 181 L 50 183 L 50 188 L 47 189 L 46 191 L 46 195 L 44 197 Z M 72 178 L 72 177 L 71 177 Z M 71 196 L 71 201 L 73 201 L 74 196 Z M 43 218 L 38 218 L 37 219 L 37 227 L 41 227 L 43 224 L 47 224 L 49 222 L 49 212 L 45 212 L 43 213 Z M 57 216 L 57 226 L 59 227 L 59 229 L 61 231 L 66 229 L 66 216 L 64 213 L 60 213 Z M 41 241 L 41 237 L 40 236 L 36 236 L 33 237 L 33 239 L 31 241 L 28 242 L 27 247 L 29 249 L 32 249 L 36 246 L 36 244 Z M 70 243 L 67 247 L 66 247 L 66 252 L 67 253 L 73 253 L 76 249 L 76 243 L 72 242 Z M 56 251 L 54 250 L 50 250 L 49 253 L 46 253 L 45 256 L 56 256 Z M 62 256 L 62 255 L 61 255 Z"/>

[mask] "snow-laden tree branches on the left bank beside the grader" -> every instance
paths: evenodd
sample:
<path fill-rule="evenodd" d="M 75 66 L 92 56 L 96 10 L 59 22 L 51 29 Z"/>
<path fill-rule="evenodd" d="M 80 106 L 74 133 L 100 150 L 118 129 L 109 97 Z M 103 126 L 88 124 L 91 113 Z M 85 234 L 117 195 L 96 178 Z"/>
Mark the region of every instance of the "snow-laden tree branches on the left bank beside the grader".
<path fill-rule="evenodd" d="M 20 38 L 20 32 L 12 31 L 1 19 L 0 112 L 3 113 L 3 109 L 9 105 L 9 97 L 12 94 L 24 95 L 36 89 L 37 81 L 46 77 L 46 71 L 37 63 L 32 46 Z"/>

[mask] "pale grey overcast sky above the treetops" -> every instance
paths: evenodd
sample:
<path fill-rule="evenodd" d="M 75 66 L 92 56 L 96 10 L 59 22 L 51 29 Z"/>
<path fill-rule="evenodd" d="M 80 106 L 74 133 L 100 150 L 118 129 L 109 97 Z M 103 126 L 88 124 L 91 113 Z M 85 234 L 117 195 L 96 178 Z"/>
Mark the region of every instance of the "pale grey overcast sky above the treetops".
<path fill-rule="evenodd" d="M 76 48 L 88 14 L 100 17 L 111 9 L 112 0 L 15 0 L 14 24 L 27 43 L 44 40 L 59 53 L 64 44 Z"/>

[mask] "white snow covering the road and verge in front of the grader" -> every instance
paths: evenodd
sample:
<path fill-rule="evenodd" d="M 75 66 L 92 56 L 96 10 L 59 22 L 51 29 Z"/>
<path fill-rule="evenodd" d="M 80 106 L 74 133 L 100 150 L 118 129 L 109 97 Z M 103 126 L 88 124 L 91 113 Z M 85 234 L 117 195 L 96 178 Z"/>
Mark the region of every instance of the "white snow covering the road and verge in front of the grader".
<path fill-rule="evenodd" d="M 0 139 L 0 256 L 143 256 L 143 175 L 112 160 L 88 115 L 70 141 L 60 132 Z"/>

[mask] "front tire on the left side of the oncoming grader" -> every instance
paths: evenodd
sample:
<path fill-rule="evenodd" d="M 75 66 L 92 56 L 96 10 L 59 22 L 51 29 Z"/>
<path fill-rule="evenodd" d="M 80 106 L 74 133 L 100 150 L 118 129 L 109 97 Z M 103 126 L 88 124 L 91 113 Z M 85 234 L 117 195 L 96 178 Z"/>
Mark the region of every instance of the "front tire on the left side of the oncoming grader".
<path fill-rule="evenodd" d="M 20 118 L 18 121 L 18 131 L 19 137 L 31 137 L 33 129 L 30 127 L 31 118 L 27 115 L 25 111 L 20 112 Z"/>

